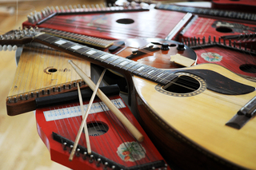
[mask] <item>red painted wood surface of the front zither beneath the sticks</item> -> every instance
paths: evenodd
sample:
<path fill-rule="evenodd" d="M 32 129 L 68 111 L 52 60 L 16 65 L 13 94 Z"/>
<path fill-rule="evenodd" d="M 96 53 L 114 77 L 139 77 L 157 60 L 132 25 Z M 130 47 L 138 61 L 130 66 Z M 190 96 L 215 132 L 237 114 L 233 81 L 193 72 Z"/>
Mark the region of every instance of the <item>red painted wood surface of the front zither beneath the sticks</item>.
<path fill-rule="evenodd" d="M 121 99 L 119 96 L 110 97 L 110 100 Z M 99 102 L 99 101 L 94 101 Z M 84 105 L 88 104 L 88 101 L 84 102 Z M 63 150 L 63 144 L 58 143 L 52 137 L 52 132 L 56 132 L 61 136 L 65 136 L 69 140 L 75 140 L 76 133 L 78 132 L 79 125 L 81 124 L 82 117 L 69 117 L 56 121 L 46 121 L 46 117 L 44 116 L 44 111 L 61 109 L 61 108 L 70 108 L 73 106 L 77 106 L 78 104 L 73 103 L 69 105 L 58 105 L 53 106 L 47 109 L 37 109 L 36 111 L 36 120 L 37 120 L 37 128 L 38 134 L 41 136 L 43 142 L 46 144 L 46 147 L 50 150 L 51 160 L 58 162 L 59 164 L 63 164 L 66 167 L 72 169 L 102 169 L 103 165 L 100 167 L 96 166 L 95 160 L 93 163 L 90 163 L 87 157 L 87 160 L 83 160 L 82 156 L 74 156 L 72 161 L 69 161 L 68 158 L 70 156 L 69 149 Z M 94 108 L 92 108 L 94 109 Z M 110 111 L 101 112 L 101 113 L 92 113 L 87 118 L 87 124 L 90 123 L 102 123 L 109 127 L 108 131 L 105 134 L 100 136 L 90 136 L 90 144 L 93 152 L 96 152 L 106 158 L 117 162 L 118 164 L 122 164 L 126 167 L 137 166 L 138 164 L 146 164 L 150 162 L 154 162 L 157 160 L 163 160 L 162 156 L 159 154 L 158 150 L 154 147 L 154 144 L 149 140 L 146 133 L 143 131 L 142 127 L 138 124 L 138 121 L 134 118 L 133 114 L 130 112 L 130 109 L 126 106 L 125 108 L 120 109 L 122 113 L 135 125 L 136 128 L 140 132 L 142 132 L 143 136 L 145 136 L 145 140 L 140 143 L 142 147 L 145 149 L 146 156 L 137 161 L 130 161 L 129 154 L 126 152 L 122 152 L 128 161 L 122 160 L 121 156 L 118 156 L 118 147 L 120 144 L 126 144 L 126 142 L 135 142 L 133 136 L 127 132 L 126 128 L 122 126 L 122 124 L 117 121 L 117 118 L 110 113 Z M 86 139 L 84 134 L 81 136 L 81 140 L 79 144 L 86 147 Z M 170 169 L 168 167 L 168 169 Z"/>

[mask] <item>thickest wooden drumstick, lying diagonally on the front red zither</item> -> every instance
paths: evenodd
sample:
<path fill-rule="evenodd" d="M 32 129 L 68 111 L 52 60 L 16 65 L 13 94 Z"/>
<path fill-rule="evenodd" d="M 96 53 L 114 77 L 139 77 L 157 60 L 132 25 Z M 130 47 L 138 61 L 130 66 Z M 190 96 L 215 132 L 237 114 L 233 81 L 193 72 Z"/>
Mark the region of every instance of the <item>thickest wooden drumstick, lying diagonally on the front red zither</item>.
<path fill-rule="evenodd" d="M 90 78 L 86 75 L 86 73 L 82 72 L 82 69 L 80 69 L 77 65 L 74 64 L 73 61 L 69 61 L 70 65 L 74 68 L 74 70 L 78 73 L 80 77 L 82 77 L 82 80 L 86 82 L 86 85 L 90 87 L 90 89 L 95 89 L 95 84 L 93 81 L 90 80 Z M 138 142 L 142 142 L 144 140 L 144 136 L 141 132 L 138 131 L 137 128 L 134 127 L 130 123 L 130 121 L 120 112 L 120 110 L 110 101 L 108 97 L 104 93 L 102 93 L 102 90 L 98 89 L 97 96 L 103 101 L 103 103 L 111 110 L 112 113 L 116 117 L 118 117 L 118 120 L 122 122 L 122 124 L 130 131 L 131 134 L 138 140 Z"/>

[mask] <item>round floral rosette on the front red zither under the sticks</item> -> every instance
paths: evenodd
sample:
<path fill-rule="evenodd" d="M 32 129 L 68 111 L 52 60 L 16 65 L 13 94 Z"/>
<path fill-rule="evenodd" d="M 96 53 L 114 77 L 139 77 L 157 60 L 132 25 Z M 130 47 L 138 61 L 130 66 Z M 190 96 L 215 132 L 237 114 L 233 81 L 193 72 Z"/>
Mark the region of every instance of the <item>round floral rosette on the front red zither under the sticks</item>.
<path fill-rule="evenodd" d="M 117 153 L 122 160 L 134 162 L 144 158 L 146 150 L 142 144 L 132 141 L 120 144 Z"/>

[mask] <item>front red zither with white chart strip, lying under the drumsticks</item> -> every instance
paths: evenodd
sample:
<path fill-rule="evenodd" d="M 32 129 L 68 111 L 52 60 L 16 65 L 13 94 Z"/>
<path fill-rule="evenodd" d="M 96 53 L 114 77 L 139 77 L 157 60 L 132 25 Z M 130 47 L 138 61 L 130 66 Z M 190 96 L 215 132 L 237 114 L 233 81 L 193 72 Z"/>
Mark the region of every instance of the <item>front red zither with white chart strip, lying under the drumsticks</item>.
<path fill-rule="evenodd" d="M 158 150 L 151 143 L 130 109 L 119 96 L 110 100 L 138 128 L 145 140 L 138 143 L 102 101 L 95 100 L 87 126 L 90 133 L 91 155 L 86 155 L 86 139 L 82 134 L 78 151 L 69 161 L 70 146 L 74 140 L 82 116 L 78 103 L 55 105 L 36 110 L 38 134 L 50 151 L 51 160 L 71 169 L 152 169 L 167 167 Z M 87 105 L 89 101 L 84 101 Z"/>

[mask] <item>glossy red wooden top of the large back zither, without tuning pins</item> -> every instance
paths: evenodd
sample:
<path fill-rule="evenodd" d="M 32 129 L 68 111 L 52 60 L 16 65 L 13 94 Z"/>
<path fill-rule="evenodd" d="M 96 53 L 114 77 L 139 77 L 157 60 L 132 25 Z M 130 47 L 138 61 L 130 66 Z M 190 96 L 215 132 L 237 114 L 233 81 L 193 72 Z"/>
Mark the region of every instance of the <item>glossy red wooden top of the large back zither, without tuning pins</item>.
<path fill-rule="evenodd" d="M 170 31 L 186 14 L 150 9 L 149 11 L 120 12 L 109 14 L 56 15 L 38 27 L 52 28 L 96 38 L 166 38 Z M 133 23 L 118 23 L 119 19 L 129 19 Z M 22 26 L 36 26 L 26 21 Z"/>

